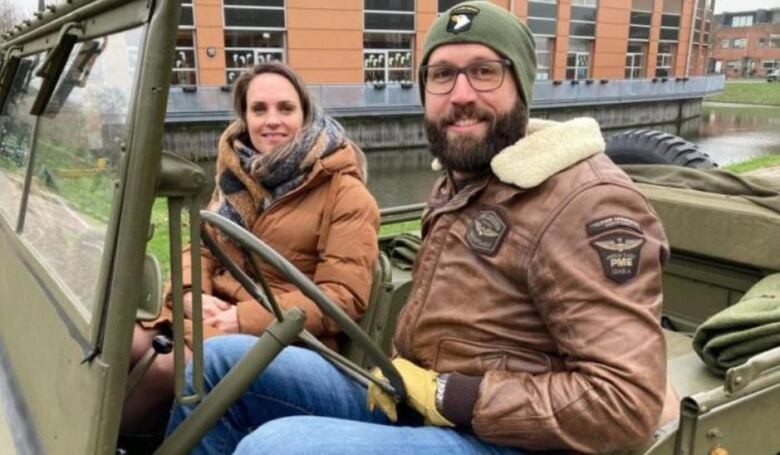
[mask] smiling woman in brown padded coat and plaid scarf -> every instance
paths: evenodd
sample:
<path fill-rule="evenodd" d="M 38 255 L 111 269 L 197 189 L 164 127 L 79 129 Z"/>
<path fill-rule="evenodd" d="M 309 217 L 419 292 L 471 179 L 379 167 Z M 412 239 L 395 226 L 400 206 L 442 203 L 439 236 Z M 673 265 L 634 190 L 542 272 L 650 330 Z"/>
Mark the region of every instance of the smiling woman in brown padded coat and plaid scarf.
<path fill-rule="evenodd" d="M 365 187 L 365 159 L 335 120 L 312 103 L 306 86 L 287 66 L 268 62 L 235 83 L 238 120 L 222 134 L 216 188 L 208 209 L 249 229 L 309 276 L 357 319 L 365 310 L 372 267 L 378 255 L 379 211 Z M 207 228 L 223 251 L 247 269 L 240 250 Z M 204 336 L 259 335 L 270 313 L 204 247 L 201 247 Z M 306 312 L 306 328 L 335 346 L 338 327 L 276 270 L 263 265 L 274 297 L 283 308 Z M 185 290 L 191 285 L 189 251 L 184 254 Z M 170 300 L 170 299 L 169 299 Z M 191 294 L 185 292 L 187 342 L 192 324 Z M 150 349 L 171 312 L 139 323 L 131 362 Z M 123 430 L 137 432 L 164 421 L 173 396 L 173 356 L 159 356 L 143 383 L 128 397 Z M 155 415 L 157 418 L 151 418 Z"/>

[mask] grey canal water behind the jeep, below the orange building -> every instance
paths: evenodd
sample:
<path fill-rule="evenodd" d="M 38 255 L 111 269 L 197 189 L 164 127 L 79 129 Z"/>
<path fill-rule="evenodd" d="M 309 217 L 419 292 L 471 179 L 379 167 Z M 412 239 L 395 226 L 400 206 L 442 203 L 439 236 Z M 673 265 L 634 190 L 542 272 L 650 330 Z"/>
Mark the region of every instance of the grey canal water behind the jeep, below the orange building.
<path fill-rule="evenodd" d="M 681 127 L 661 125 L 651 129 L 682 135 L 699 144 L 721 166 L 762 155 L 780 155 L 778 107 L 705 103 L 701 117 Z M 438 177 L 431 170 L 431 156 L 425 149 L 372 150 L 367 157 L 368 186 L 380 207 L 425 201 Z"/>

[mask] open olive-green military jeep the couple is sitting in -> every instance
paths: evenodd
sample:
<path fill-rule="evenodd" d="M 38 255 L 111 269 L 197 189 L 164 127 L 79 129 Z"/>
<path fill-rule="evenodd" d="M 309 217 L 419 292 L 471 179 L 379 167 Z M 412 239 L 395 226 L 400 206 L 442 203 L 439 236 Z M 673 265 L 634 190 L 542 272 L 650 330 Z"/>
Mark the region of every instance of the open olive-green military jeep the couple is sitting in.
<path fill-rule="evenodd" d="M 356 380 L 367 381 L 364 367 L 378 365 L 389 378 L 382 386 L 404 393 L 387 352 L 411 284 L 399 258 L 407 264 L 413 259 L 413 242 L 401 236 L 380 240 L 385 254 L 358 325 L 262 239 L 201 213 L 204 172 L 161 146 L 178 16 L 178 1 L 73 0 L 2 36 L 2 454 L 186 453 L 246 383 L 294 342 L 323 352 Z M 780 272 L 780 213 L 739 196 L 640 186 L 673 248 L 664 277 L 664 315 L 668 374 L 681 396 L 681 417 L 635 453 L 780 453 L 775 430 L 780 349 L 757 354 L 723 379 L 705 368 L 689 336 L 760 279 Z M 148 252 L 152 207 L 161 199 L 169 210 L 178 320 L 186 215 L 192 241 L 201 238 L 201 221 L 217 226 L 253 258 L 274 264 L 298 283 L 341 323 L 349 340 L 341 355 L 326 351 L 303 331 L 305 315 L 280 312 L 264 293 L 262 277 L 244 275 L 247 288 L 277 322 L 251 358 L 236 367 L 235 380 L 223 381 L 205 397 L 199 387 L 191 396 L 182 392 L 181 339 L 174 338 L 172 353 L 170 344 L 158 343 L 152 356 L 175 356 L 177 400 L 200 404 L 180 430 L 144 445 L 120 435 L 119 428 L 125 396 L 147 364 L 128 375 L 133 325 L 155 317 L 162 305 L 163 276 Z M 387 209 L 383 222 L 415 219 L 421 210 L 419 205 Z M 197 296 L 199 290 L 194 291 Z M 196 333 L 196 378 L 202 368 L 200 341 Z"/>

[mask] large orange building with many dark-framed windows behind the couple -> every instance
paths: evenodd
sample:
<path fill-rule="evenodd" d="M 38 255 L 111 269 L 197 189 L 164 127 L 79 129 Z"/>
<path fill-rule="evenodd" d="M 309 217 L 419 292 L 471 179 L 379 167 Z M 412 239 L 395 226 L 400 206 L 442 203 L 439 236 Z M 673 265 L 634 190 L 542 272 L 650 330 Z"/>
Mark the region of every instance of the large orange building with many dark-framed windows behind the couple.
<path fill-rule="evenodd" d="M 705 72 L 712 0 L 493 0 L 526 21 L 539 79 Z M 423 38 L 457 0 L 182 0 L 175 85 L 229 84 L 283 60 L 312 84 L 410 84 Z"/>

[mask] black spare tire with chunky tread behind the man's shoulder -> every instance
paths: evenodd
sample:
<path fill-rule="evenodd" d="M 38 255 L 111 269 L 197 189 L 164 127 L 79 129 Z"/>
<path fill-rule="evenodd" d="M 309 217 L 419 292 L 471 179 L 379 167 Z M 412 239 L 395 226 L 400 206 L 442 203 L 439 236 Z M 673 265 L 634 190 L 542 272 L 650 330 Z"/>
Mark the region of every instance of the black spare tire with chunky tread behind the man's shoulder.
<path fill-rule="evenodd" d="M 698 145 L 663 131 L 623 131 L 607 138 L 605 151 L 616 164 L 673 164 L 697 169 L 718 167 Z"/>

